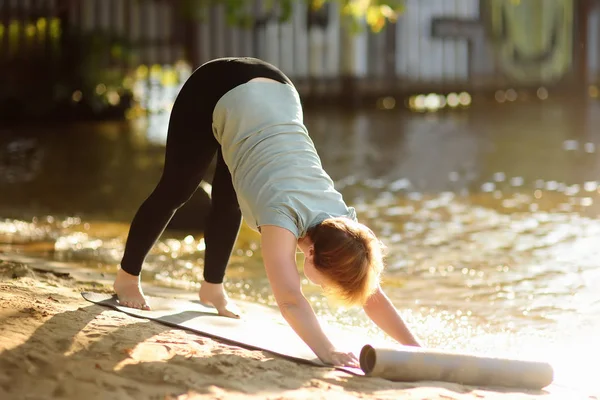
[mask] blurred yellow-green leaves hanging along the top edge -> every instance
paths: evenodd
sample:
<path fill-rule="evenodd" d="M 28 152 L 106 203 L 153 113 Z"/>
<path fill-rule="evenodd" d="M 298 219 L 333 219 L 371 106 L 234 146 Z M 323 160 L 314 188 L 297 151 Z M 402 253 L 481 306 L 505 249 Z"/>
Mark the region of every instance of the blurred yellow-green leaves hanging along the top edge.
<path fill-rule="evenodd" d="M 258 17 L 287 21 L 295 2 L 303 1 L 313 10 L 326 3 L 337 3 L 342 16 L 350 19 L 356 29 L 365 21 L 373 32 L 379 32 L 388 21 L 394 21 L 404 9 L 404 0 L 263 0 L 257 9 L 254 1 L 248 0 L 183 0 L 181 11 L 192 19 L 206 20 L 211 8 L 220 6 L 225 11 L 227 23 L 240 27 L 251 27 Z"/>

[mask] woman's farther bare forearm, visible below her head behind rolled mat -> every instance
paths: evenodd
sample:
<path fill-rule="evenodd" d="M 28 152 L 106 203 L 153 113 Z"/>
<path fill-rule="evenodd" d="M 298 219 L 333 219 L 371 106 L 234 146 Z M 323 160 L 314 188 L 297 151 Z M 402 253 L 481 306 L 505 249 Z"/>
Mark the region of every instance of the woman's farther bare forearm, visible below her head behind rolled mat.
<path fill-rule="evenodd" d="M 363 309 L 377 326 L 400 344 L 421 347 L 380 287 L 367 300 Z"/>

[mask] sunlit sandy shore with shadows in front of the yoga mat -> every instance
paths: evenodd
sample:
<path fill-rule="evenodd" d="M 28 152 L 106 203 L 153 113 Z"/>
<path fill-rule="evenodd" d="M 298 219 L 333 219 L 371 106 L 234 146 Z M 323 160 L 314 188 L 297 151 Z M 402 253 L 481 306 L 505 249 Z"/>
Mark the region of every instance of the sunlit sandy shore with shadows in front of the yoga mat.
<path fill-rule="evenodd" d="M 0 399 L 596 399 L 302 365 L 82 299 L 81 291 L 112 292 L 110 276 L 8 258 L 0 253 Z"/>

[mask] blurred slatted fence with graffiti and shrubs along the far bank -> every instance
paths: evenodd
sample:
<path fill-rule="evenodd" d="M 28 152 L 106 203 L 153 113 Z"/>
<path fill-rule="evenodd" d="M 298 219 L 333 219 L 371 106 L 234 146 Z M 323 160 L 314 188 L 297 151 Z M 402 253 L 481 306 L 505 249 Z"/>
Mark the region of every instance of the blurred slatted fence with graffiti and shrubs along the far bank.
<path fill-rule="evenodd" d="M 190 18 L 185 0 L 0 0 L 0 102 L 43 111 L 91 97 L 94 113 L 126 103 L 123 88 L 176 92 L 191 68 L 232 55 L 276 64 L 305 98 L 580 90 L 600 76 L 598 0 L 406 0 L 396 23 L 356 34 L 335 2 L 298 1 L 284 22 L 264 3 L 248 2 L 254 22 L 240 28 L 221 7 Z"/>

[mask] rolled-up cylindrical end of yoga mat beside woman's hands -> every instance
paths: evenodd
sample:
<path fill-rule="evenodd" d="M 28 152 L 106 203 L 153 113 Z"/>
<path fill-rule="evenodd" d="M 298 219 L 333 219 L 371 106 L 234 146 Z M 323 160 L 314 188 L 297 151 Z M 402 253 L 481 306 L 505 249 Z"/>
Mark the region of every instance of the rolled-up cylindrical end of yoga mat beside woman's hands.
<path fill-rule="evenodd" d="M 385 349 L 366 345 L 360 367 L 367 376 L 391 381 L 442 381 L 473 386 L 541 389 L 554 379 L 545 362 L 493 358 L 437 350 Z"/>

